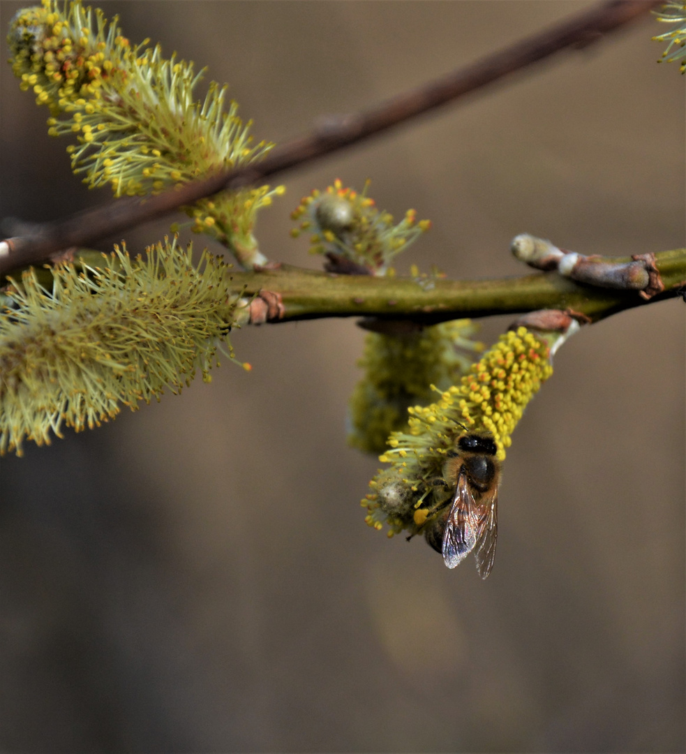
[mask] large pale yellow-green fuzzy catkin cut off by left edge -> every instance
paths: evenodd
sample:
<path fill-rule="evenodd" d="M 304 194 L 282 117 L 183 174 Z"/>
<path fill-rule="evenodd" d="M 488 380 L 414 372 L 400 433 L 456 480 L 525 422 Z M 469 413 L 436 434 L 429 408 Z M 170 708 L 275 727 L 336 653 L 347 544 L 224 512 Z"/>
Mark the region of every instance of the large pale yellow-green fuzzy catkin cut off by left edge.
<path fill-rule="evenodd" d="M 20 283 L 10 278 L 0 311 L 0 455 L 22 455 L 24 440 L 49 444 L 62 425 L 98 426 L 164 388 L 177 393 L 198 368 L 210 379 L 238 300 L 226 265 L 204 253 L 194 266 L 190 245 L 167 239 L 147 252 L 131 259 L 115 247 L 102 267 L 55 265 L 51 291 L 32 268 Z"/>

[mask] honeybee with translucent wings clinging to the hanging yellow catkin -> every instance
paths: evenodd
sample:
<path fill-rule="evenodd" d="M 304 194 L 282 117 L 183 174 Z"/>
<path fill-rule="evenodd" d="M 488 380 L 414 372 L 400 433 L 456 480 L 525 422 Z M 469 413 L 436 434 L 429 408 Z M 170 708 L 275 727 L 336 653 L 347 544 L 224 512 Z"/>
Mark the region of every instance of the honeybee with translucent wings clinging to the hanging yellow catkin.
<path fill-rule="evenodd" d="M 448 510 L 427 523 L 424 537 L 448 568 L 458 566 L 474 551 L 476 570 L 487 578 L 498 539 L 498 447 L 487 434 L 463 434 L 450 451 L 442 481 L 454 489 Z"/>

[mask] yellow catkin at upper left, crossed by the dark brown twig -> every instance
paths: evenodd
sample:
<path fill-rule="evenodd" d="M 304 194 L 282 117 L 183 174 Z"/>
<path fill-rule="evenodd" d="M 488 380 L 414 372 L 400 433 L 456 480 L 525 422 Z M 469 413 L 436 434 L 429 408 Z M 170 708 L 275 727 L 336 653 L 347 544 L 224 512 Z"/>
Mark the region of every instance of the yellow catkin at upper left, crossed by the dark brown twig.
<path fill-rule="evenodd" d="M 90 188 L 110 185 L 115 196 L 155 194 L 217 170 L 250 164 L 274 146 L 253 145 L 251 123 L 238 117 L 228 87 L 202 78 L 192 62 L 165 59 L 149 40 L 132 46 L 100 9 L 43 0 L 19 11 L 8 42 L 20 87 L 51 111 L 48 133 L 69 136 L 72 170 Z M 228 110 L 225 111 L 225 105 Z M 185 212 L 191 229 L 216 238 L 242 263 L 263 264 L 253 236 L 256 216 L 283 186 L 221 192 Z"/>

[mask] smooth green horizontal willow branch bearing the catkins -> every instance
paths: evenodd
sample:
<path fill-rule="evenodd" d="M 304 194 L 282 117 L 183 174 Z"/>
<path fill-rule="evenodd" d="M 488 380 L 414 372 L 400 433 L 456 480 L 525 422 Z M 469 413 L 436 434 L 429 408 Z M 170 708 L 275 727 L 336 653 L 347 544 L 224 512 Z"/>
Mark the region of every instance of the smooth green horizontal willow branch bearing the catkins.
<path fill-rule="evenodd" d="M 608 258 L 608 262 L 629 262 Z M 336 275 L 281 265 L 259 272 L 232 272 L 231 286 L 255 296 L 237 310 L 237 324 L 292 322 L 322 317 L 378 317 L 435 324 L 459 317 L 490 317 L 567 309 L 590 322 L 617 311 L 678 296 L 686 284 L 686 249 L 655 255 L 665 290 L 645 300 L 636 291 L 579 284 L 557 272 L 491 280 L 431 280 Z"/>

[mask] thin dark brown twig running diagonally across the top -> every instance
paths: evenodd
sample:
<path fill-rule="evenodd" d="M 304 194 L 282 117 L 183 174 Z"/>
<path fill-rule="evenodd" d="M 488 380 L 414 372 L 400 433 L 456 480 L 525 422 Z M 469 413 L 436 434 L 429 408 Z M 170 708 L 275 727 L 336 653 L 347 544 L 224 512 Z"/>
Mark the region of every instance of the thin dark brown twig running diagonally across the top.
<path fill-rule="evenodd" d="M 0 275 L 24 265 L 47 262 L 51 255 L 67 247 L 85 247 L 100 238 L 121 233 L 193 204 L 198 199 L 225 189 L 238 189 L 283 173 L 292 167 L 314 161 L 338 149 L 358 143 L 377 133 L 430 112 L 463 97 L 531 63 L 544 60 L 565 48 L 584 48 L 599 41 L 639 15 L 659 5 L 661 0 L 609 0 L 571 19 L 538 32 L 487 57 L 477 60 L 443 78 L 400 94 L 380 105 L 353 115 L 320 118 L 311 133 L 299 136 L 274 149 L 259 164 L 222 171 L 189 182 L 180 189 L 138 199 L 118 199 L 60 222 L 46 223 L 37 234 L 18 236 L 0 242 Z"/>

